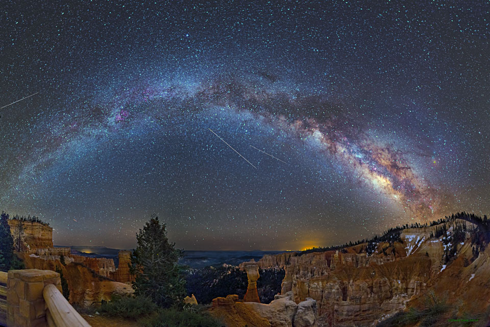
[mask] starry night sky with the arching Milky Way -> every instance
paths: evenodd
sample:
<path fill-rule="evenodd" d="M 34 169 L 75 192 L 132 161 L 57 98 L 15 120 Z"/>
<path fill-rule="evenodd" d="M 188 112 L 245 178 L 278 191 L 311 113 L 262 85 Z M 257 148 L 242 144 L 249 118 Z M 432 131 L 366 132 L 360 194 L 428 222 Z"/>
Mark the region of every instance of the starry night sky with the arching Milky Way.
<path fill-rule="evenodd" d="M 0 8 L 0 107 L 39 92 L 0 109 L 0 209 L 55 244 L 132 248 L 152 213 L 187 250 L 490 213 L 487 1 Z"/>

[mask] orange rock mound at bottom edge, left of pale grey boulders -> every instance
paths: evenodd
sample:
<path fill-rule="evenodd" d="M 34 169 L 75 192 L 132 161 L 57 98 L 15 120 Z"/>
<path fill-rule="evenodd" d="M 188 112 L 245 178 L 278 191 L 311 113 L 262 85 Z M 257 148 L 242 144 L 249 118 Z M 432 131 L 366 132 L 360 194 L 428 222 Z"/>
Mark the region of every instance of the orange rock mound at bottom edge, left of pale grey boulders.
<path fill-rule="evenodd" d="M 238 302 L 238 295 L 213 299 L 209 313 L 223 321 L 227 327 L 271 327 L 267 319 L 261 317 L 246 303 Z"/>

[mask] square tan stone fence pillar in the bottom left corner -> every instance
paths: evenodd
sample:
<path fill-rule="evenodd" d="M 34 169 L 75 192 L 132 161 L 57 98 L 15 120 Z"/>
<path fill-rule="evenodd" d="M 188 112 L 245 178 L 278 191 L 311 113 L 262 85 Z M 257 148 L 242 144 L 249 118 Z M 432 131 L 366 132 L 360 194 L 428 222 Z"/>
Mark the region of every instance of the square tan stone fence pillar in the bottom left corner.
<path fill-rule="evenodd" d="M 9 270 L 7 281 L 7 325 L 47 327 L 42 290 L 54 284 L 61 292 L 60 274 L 51 270 Z"/>

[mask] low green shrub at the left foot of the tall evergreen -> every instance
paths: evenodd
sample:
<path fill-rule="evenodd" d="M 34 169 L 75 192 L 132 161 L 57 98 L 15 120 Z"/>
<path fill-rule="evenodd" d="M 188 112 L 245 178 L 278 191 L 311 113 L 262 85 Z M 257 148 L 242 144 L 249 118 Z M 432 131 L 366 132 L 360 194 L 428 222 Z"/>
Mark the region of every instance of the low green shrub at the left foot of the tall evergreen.
<path fill-rule="evenodd" d="M 149 316 L 156 311 L 158 311 L 158 306 L 152 302 L 151 298 L 144 296 L 113 295 L 110 302 L 103 301 L 101 305 L 101 312 L 133 320 Z"/>

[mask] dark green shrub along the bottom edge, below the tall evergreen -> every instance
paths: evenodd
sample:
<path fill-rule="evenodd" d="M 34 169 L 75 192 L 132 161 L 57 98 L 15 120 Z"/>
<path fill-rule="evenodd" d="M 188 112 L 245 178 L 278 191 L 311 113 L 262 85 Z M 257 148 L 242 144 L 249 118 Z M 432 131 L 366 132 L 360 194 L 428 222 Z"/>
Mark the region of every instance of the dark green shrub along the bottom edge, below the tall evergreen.
<path fill-rule="evenodd" d="M 224 327 L 224 324 L 207 312 L 179 310 L 177 308 L 160 310 L 158 315 L 140 321 L 145 327 Z"/>

